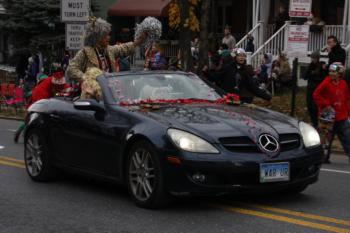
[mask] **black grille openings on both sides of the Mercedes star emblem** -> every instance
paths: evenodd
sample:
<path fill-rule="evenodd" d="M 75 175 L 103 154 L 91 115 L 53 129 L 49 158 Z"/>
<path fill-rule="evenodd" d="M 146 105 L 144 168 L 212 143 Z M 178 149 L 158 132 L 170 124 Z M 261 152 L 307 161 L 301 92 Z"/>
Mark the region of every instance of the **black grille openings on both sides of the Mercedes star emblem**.
<path fill-rule="evenodd" d="M 219 142 L 229 151 L 235 153 L 261 153 L 258 145 L 249 137 L 219 138 Z M 281 152 L 290 151 L 300 146 L 299 134 L 280 134 Z"/>

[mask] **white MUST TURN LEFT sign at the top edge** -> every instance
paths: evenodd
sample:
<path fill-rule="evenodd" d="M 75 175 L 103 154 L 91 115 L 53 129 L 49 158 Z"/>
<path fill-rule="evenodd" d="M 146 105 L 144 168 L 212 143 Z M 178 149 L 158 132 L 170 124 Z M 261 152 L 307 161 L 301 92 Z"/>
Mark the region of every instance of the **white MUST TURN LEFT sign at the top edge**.
<path fill-rule="evenodd" d="M 86 22 L 89 12 L 90 0 L 61 0 L 62 22 Z"/>

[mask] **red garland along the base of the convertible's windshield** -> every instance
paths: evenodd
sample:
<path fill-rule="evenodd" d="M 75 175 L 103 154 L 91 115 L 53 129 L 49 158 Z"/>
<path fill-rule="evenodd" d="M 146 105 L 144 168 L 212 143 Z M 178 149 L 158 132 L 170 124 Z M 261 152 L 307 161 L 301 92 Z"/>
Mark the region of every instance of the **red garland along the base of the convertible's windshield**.
<path fill-rule="evenodd" d="M 202 100 L 202 99 L 156 99 L 156 100 L 140 100 L 140 101 L 121 101 L 119 103 L 122 107 L 139 106 L 140 108 L 158 109 L 161 105 L 169 104 L 228 104 L 228 105 L 239 105 L 240 99 L 236 94 L 227 94 L 223 98 L 215 101 Z"/>

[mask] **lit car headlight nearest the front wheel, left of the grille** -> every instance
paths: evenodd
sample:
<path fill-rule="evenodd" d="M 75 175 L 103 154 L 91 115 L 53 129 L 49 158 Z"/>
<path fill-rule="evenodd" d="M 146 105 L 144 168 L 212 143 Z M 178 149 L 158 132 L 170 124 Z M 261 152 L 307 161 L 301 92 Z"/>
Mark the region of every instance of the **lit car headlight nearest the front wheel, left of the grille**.
<path fill-rule="evenodd" d="M 180 149 L 189 152 L 219 154 L 220 152 L 209 142 L 178 129 L 168 129 L 168 135 L 171 140 Z"/>

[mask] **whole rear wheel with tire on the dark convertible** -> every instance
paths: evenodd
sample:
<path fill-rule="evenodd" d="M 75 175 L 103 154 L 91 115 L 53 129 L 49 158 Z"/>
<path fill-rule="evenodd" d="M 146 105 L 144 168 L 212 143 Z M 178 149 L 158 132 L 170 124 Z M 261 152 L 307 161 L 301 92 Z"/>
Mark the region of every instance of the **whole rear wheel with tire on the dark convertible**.
<path fill-rule="evenodd" d="M 47 138 L 39 129 L 30 130 L 26 135 L 24 161 L 27 173 L 34 181 L 52 181 L 57 176 L 57 170 L 50 161 Z"/>

